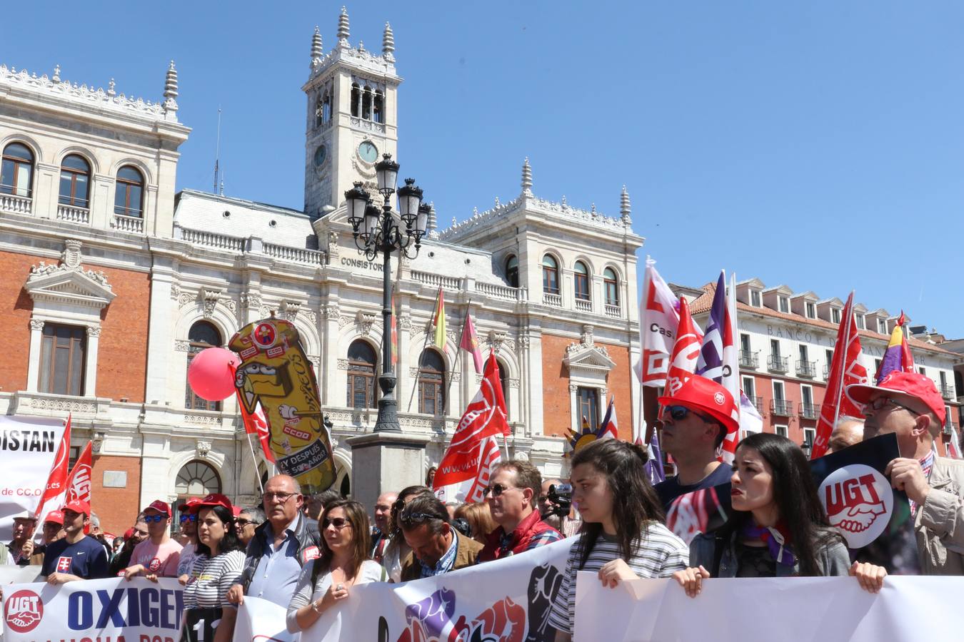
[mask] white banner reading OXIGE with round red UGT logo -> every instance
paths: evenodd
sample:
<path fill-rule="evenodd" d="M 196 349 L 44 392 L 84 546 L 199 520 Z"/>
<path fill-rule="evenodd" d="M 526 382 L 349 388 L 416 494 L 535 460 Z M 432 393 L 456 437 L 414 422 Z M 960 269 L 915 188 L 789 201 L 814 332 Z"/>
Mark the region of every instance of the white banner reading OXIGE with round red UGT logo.
<path fill-rule="evenodd" d="M 4 642 L 108 638 L 174 642 L 184 611 L 176 579 L 90 579 L 3 587 Z"/>

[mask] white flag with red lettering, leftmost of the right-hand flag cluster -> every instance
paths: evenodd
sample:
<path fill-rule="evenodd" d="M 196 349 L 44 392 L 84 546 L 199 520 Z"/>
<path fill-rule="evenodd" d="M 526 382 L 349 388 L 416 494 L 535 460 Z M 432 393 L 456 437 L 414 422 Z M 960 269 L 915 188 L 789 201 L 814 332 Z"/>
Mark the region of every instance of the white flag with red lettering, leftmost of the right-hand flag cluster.
<path fill-rule="evenodd" d="M 656 271 L 656 261 L 646 260 L 643 278 L 644 296 L 639 305 L 639 345 L 643 354 L 636 375 L 644 386 L 665 386 L 680 312 L 676 296 Z"/>

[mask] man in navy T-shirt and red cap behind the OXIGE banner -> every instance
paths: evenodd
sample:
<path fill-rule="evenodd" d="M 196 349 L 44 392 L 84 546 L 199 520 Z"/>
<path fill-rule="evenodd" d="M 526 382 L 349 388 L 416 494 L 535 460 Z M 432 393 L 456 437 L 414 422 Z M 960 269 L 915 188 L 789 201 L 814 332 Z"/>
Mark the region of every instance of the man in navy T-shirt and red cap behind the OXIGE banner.
<path fill-rule="evenodd" d="M 84 527 L 90 523 L 91 505 L 70 501 L 62 510 L 64 539 L 47 546 L 40 575 L 50 584 L 107 578 L 107 552 L 100 542 L 84 534 Z"/>

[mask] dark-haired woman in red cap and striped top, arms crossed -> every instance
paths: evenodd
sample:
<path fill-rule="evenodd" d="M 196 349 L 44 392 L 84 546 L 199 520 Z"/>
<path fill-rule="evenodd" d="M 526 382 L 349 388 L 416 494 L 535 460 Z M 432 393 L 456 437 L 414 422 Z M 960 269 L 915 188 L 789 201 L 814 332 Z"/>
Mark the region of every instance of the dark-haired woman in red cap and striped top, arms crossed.
<path fill-rule="evenodd" d="M 197 557 L 184 585 L 182 642 L 198 639 L 222 642 L 234 635 L 237 607 L 228 603 L 228 590 L 241 581 L 244 551 L 234 526 L 231 502 L 212 494 L 191 507 L 198 516 Z M 214 622 L 220 620 L 215 629 Z M 209 636 L 214 629 L 213 638 Z"/>

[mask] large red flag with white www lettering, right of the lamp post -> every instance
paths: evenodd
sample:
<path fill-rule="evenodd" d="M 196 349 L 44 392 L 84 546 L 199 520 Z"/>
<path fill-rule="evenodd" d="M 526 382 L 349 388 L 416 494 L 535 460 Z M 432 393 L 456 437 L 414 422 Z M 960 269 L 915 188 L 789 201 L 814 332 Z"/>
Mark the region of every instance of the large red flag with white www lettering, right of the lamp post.
<path fill-rule="evenodd" d="M 509 434 L 505 398 L 498 378 L 495 352 L 490 350 L 482 383 L 455 428 L 433 480 L 442 501 L 482 501 L 492 469 L 500 457 L 495 435 Z"/>

